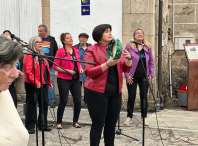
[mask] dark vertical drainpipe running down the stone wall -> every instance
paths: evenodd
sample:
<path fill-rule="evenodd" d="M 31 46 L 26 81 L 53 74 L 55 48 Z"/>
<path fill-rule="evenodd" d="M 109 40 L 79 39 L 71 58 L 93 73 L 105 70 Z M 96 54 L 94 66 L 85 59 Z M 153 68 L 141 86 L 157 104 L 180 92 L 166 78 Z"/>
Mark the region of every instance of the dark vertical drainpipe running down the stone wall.
<path fill-rule="evenodd" d="M 163 0 L 159 0 L 159 29 L 158 29 L 158 95 L 160 99 L 160 107 L 164 107 L 164 99 L 162 96 L 162 11 Z"/>

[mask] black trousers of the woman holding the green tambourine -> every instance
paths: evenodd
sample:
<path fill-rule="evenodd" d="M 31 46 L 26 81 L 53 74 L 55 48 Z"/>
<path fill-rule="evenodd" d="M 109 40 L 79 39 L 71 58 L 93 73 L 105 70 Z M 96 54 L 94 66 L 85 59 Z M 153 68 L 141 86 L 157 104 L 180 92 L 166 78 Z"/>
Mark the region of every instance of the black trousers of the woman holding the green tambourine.
<path fill-rule="evenodd" d="M 90 146 L 99 146 L 104 127 L 105 146 L 114 146 L 115 127 L 121 109 L 121 93 L 106 96 L 85 88 L 89 115 L 92 119 Z"/>

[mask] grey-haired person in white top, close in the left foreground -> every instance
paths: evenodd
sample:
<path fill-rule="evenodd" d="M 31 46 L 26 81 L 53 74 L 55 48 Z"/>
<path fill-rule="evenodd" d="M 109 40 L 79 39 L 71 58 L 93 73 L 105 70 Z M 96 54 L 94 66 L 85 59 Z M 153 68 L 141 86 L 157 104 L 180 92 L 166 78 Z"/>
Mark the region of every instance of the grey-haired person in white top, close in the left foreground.
<path fill-rule="evenodd" d="M 22 47 L 14 41 L 0 37 L 0 145 L 27 146 L 29 135 L 14 106 L 8 90 L 14 78 L 18 78 L 16 69 L 22 56 Z"/>

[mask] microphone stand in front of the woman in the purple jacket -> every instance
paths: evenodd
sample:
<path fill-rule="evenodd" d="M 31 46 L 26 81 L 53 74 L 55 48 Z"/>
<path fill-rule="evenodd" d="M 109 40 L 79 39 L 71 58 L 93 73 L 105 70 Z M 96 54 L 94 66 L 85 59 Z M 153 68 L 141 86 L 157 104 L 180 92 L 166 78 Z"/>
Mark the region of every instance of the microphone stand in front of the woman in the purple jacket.
<path fill-rule="evenodd" d="M 150 91 L 151 91 L 152 96 L 153 96 L 153 100 L 154 100 L 154 102 L 155 102 L 155 104 L 156 104 L 156 100 L 155 100 L 153 91 L 151 90 L 151 86 L 150 86 L 150 84 L 149 84 L 149 80 L 148 80 L 148 76 L 147 76 L 147 73 L 146 73 L 146 69 L 145 69 L 143 60 L 142 60 L 142 58 L 141 58 L 140 51 L 139 51 L 139 49 L 138 49 L 138 44 L 137 44 L 137 43 L 135 43 L 135 44 L 136 44 L 136 48 L 137 48 L 137 50 L 138 50 L 138 53 L 139 53 L 139 56 L 140 56 L 140 60 L 141 60 L 141 62 L 142 62 L 142 66 L 143 66 L 144 73 L 145 73 L 145 76 L 146 76 L 146 78 L 143 79 L 143 83 L 144 83 L 144 90 L 143 90 L 143 91 L 144 91 L 144 93 L 146 93 L 146 90 L 147 90 L 146 86 L 149 85 Z M 143 47 L 144 47 L 144 46 L 143 46 Z M 145 47 L 147 47 L 147 46 L 145 45 Z M 147 47 L 147 48 L 148 48 L 148 47 Z M 143 49 L 143 48 L 142 48 L 142 49 Z M 145 136 L 145 115 L 146 115 L 146 105 L 147 105 L 147 103 L 146 103 L 146 98 L 147 98 L 147 95 L 144 94 L 144 97 L 143 97 L 143 117 L 142 117 L 142 118 L 143 118 L 142 146 L 144 146 L 144 136 Z"/>

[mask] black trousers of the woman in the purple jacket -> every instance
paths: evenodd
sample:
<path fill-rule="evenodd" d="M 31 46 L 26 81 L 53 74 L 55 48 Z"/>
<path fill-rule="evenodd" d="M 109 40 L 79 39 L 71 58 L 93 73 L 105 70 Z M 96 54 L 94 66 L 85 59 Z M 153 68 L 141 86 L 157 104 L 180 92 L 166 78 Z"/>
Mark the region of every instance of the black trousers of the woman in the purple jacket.
<path fill-rule="evenodd" d="M 137 84 L 139 84 L 140 89 L 140 99 L 141 99 L 141 116 L 143 117 L 143 98 L 145 96 L 146 101 L 146 110 L 145 117 L 147 117 L 147 108 L 148 108 L 148 82 L 146 78 L 133 78 L 133 83 L 131 85 L 127 84 L 128 88 L 128 106 L 127 106 L 127 117 L 133 117 L 133 109 L 136 98 Z"/>

